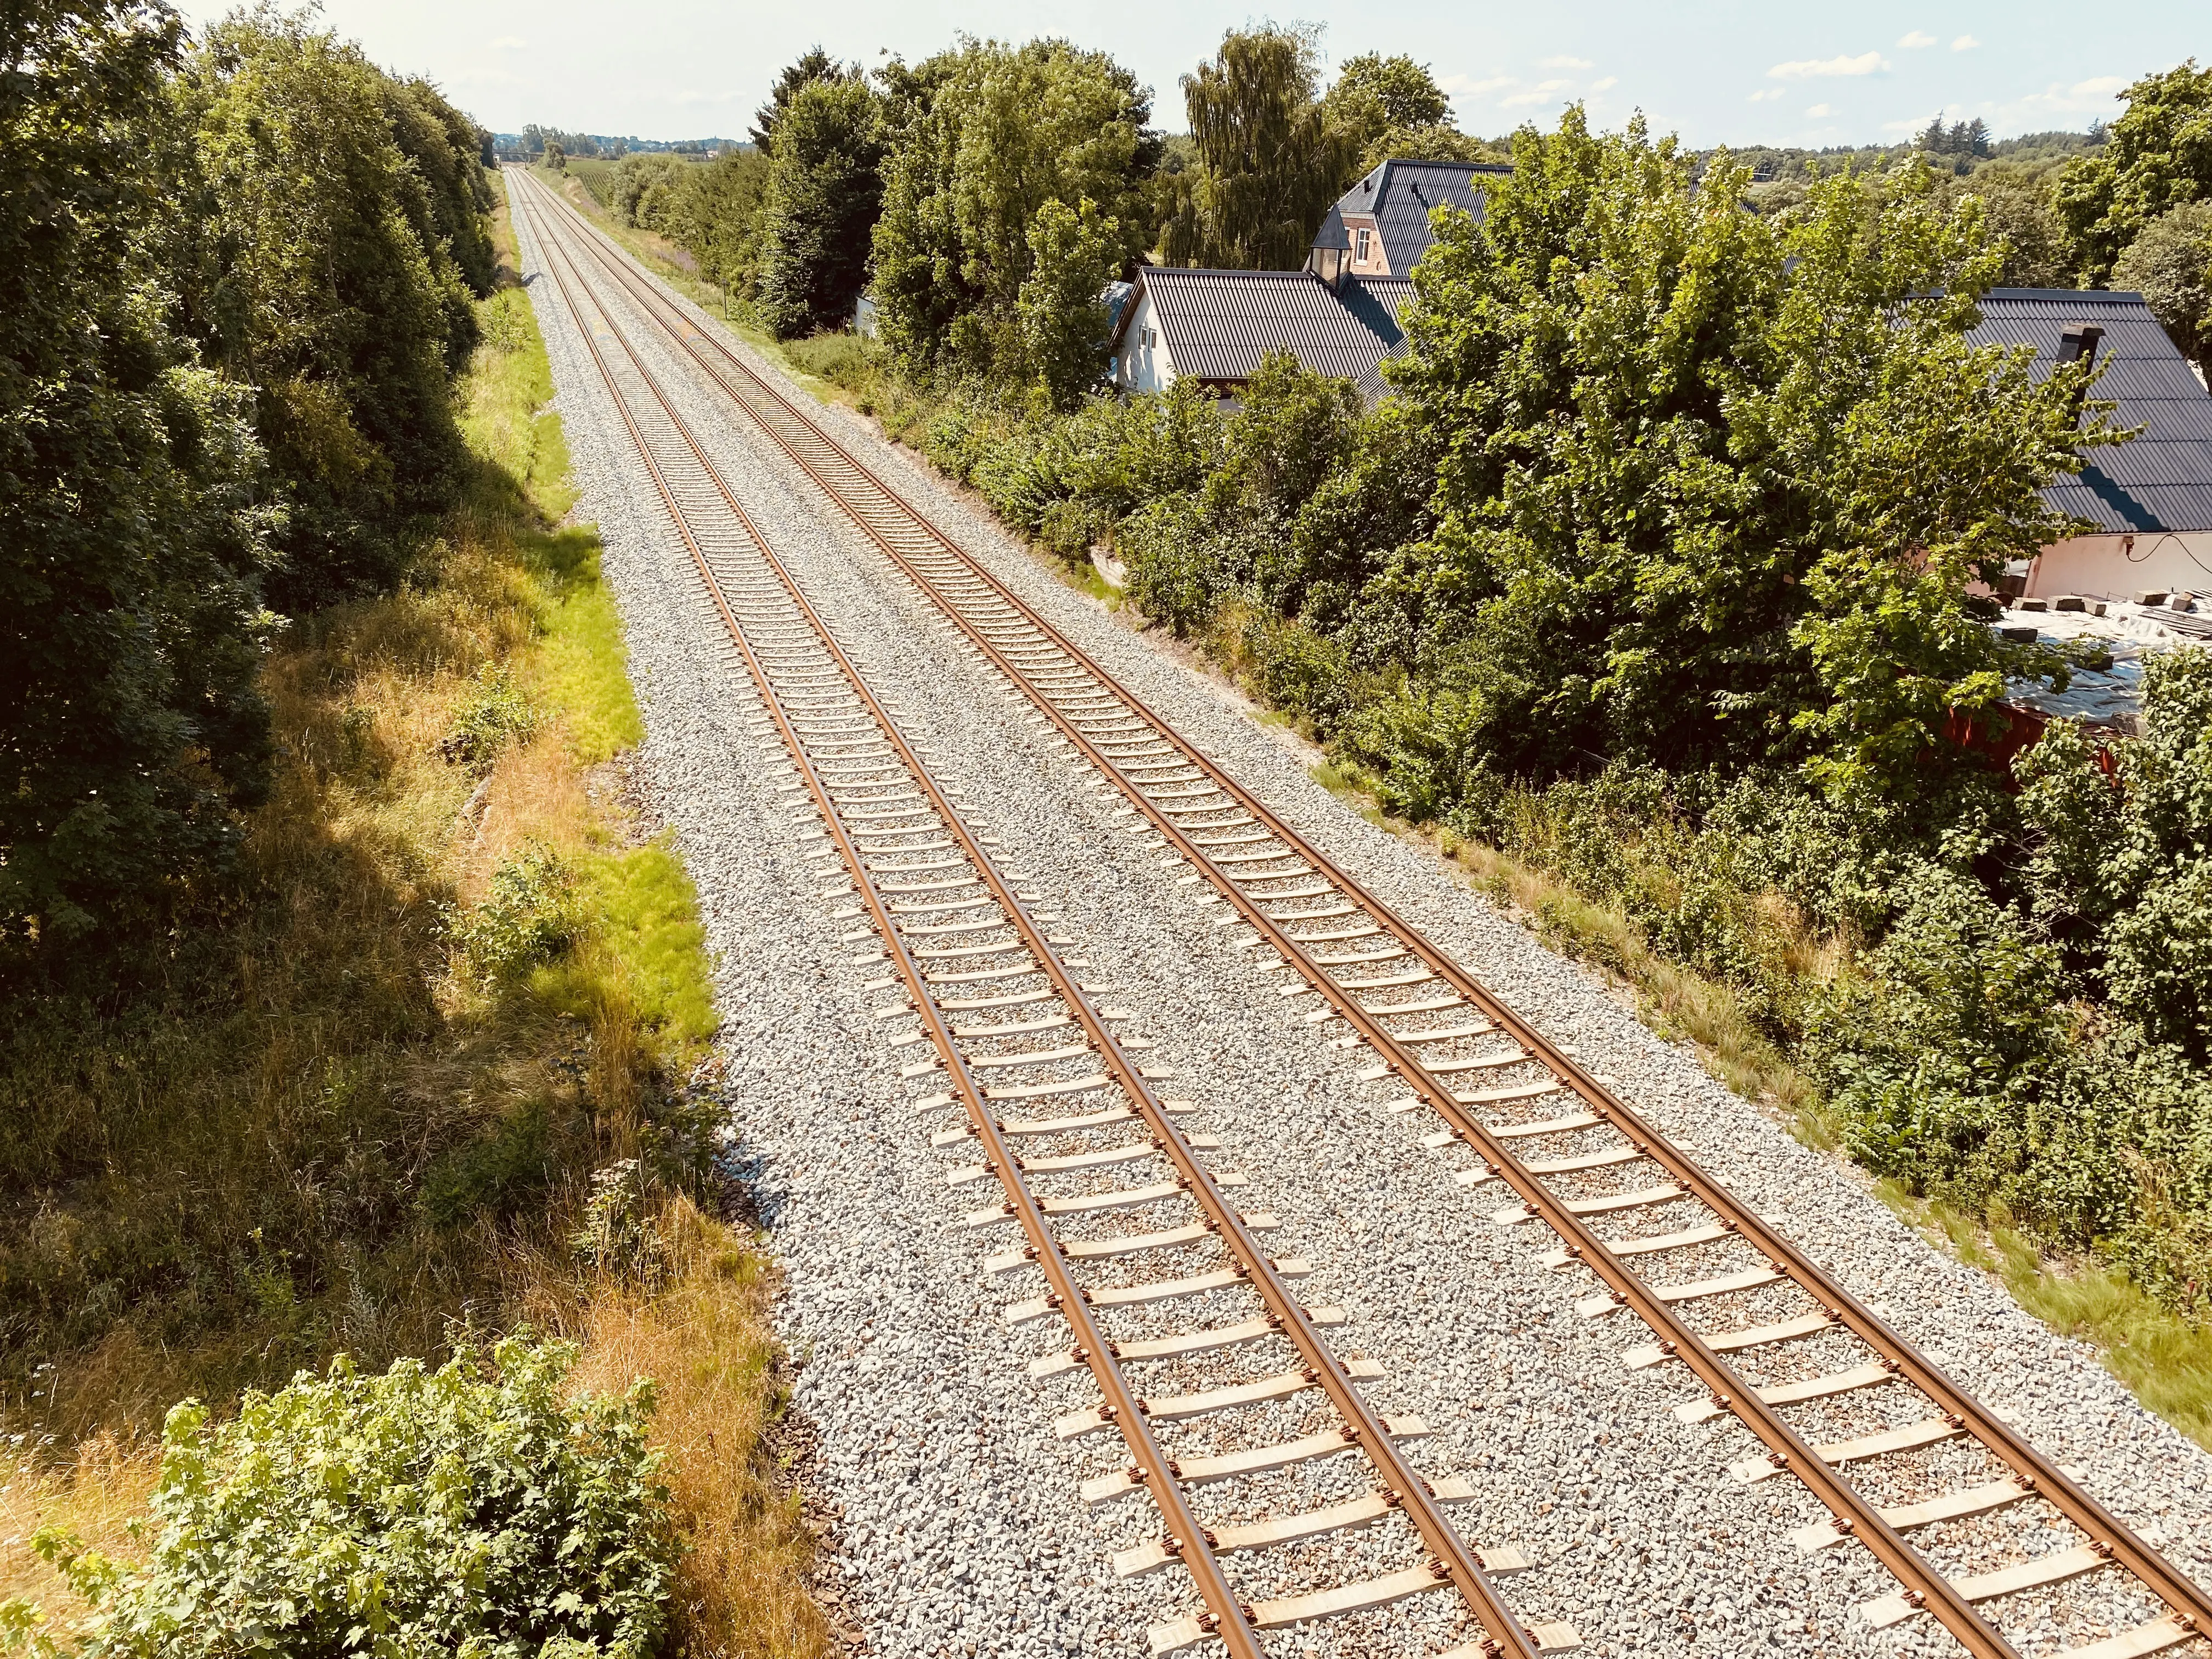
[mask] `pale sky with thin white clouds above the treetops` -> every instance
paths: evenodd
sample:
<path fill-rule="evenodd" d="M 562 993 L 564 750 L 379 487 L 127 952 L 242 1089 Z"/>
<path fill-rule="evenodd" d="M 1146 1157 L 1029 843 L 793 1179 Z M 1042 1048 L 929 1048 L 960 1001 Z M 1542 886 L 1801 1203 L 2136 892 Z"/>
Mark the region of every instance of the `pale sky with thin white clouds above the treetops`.
<path fill-rule="evenodd" d="M 2212 55 L 2201 0 L 1292 0 L 1323 27 L 1329 66 L 1380 51 L 1429 64 L 1478 135 L 1551 126 L 1582 100 L 1597 126 L 1644 111 L 1688 144 L 1896 144 L 1980 115 L 1997 137 L 2110 119 L 2139 75 Z M 204 22 L 228 4 L 186 4 Z M 387 69 L 436 80 L 493 131 L 745 137 L 781 64 L 821 42 L 876 64 L 960 33 L 1066 35 L 1155 88 L 1155 124 L 1183 131 L 1179 75 L 1254 13 L 1221 0 L 323 0 L 323 18 Z"/>

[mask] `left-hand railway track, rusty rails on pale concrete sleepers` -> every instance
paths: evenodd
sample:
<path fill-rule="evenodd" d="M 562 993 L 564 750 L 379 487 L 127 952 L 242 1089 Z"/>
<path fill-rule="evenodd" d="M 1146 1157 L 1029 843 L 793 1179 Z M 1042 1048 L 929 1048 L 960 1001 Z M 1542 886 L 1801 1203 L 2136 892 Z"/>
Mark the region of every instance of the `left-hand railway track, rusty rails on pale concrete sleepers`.
<path fill-rule="evenodd" d="M 843 869 L 836 885 L 823 889 L 823 898 L 856 900 L 834 911 L 841 920 L 863 922 L 845 936 L 847 945 L 865 947 L 852 958 L 852 967 L 885 969 L 865 989 L 900 995 L 898 1004 L 878 1011 L 880 1020 L 916 1020 L 911 1031 L 896 1031 L 889 1042 L 927 1044 L 925 1057 L 905 1066 L 902 1075 L 942 1088 L 916 1102 L 916 1110 L 925 1121 L 940 1121 L 947 1113 L 964 1117 L 964 1124 L 931 1135 L 931 1144 L 962 1150 L 973 1146 L 982 1152 L 982 1164 L 953 1168 L 947 1181 L 995 1181 L 1002 1192 L 1000 1203 L 971 1210 L 967 1225 L 978 1232 L 1011 1225 L 1024 1241 L 998 1250 L 987 1270 L 1006 1274 L 1035 1267 L 1044 1276 L 1046 1292 L 1011 1305 L 1006 1318 L 1013 1325 L 1060 1318 L 1073 1336 L 1066 1349 L 1033 1360 L 1031 1374 L 1042 1378 L 1086 1369 L 1097 1385 L 1099 1405 L 1062 1416 L 1053 1425 L 1055 1433 L 1064 1440 L 1104 1429 L 1121 1436 L 1128 1462 L 1091 1480 L 1082 1495 L 1086 1502 L 1108 1502 L 1146 1491 L 1161 1513 L 1164 1535 L 1155 1544 L 1124 1551 L 1117 1568 L 1135 1575 L 1181 1564 L 1199 1593 L 1203 1610 L 1157 1626 L 1150 1632 L 1152 1652 L 1175 1652 L 1217 1637 L 1232 1655 L 1256 1659 L 1263 1652 L 1261 1630 L 1433 1593 L 1455 1593 L 1464 1604 L 1471 1630 L 1469 1644 L 1458 1652 L 1467 1659 L 1575 1646 L 1566 1626 L 1524 1628 L 1498 1597 L 1484 1575 L 1484 1557 L 1444 1517 L 1444 1502 L 1469 1495 L 1464 1482 L 1422 1475 L 1398 1444 L 1427 1433 L 1425 1425 L 1385 1418 L 1367 1405 L 1356 1385 L 1380 1369 L 1367 1360 L 1338 1358 L 1321 1336 L 1323 1327 L 1343 1316 L 1334 1310 L 1307 1310 L 1296 1301 L 1290 1281 L 1305 1276 L 1307 1265 L 1265 1254 L 1259 1232 L 1270 1230 L 1274 1219 L 1230 1203 L 1228 1188 L 1241 1183 L 1241 1177 L 1214 1172 L 1201 1161 L 1201 1152 L 1219 1150 L 1219 1141 L 1177 1124 L 1183 1104 L 1159 1097 L 1152 1077 L 1130 1057 L 1137 1044 L 1113 1031 L 1121 1011 L 1099 1006 L 1099 987 L 1075 978 L 1082 962 L 1064 956 L 1068 940 L 1044 931 L 1051 918 L 1029 909 L 1015 889 L 1020 878 L 987 852 L 984 841 L 964 823 L 960 805 L 931 776 L 898 712 L 869 690 L 832 628 L 661 396 L 615 319 L 593 301 L 584 274 L 544 223 L 542 199 L 529 186 L 518 195 L 549 252 L 553 283 L 575 314 L 701 586 L 792 757 L 794 781 L 785 787 L 810 803 L 796 821 L 796 838 L 818 841 L 821 852 Z M 776 644 L 770 646 L 770 639 Z M 796 688 L 805 688 L 805 695 Z M 816 714 L 836 710 L 843 719 L 807 719 L 801 708 Z M 894 814 L 885 803 L 909 805 Z M 905 896 L 918 885 L 885 880 L 889 869 L 900 867 L 883 858 L 889 847 L 953 849 L 951 858 L 927 860 L 929 869 L 958 872 L 925 883 L 947 898 L 918 902 Z M 907 920 L 918 916 L 931 920 Z M 931 964 L 945 951 L 922 940 L 949 933 L 995 933 L 998 938 L 973 949 L 1004 967 L 989 973 L 933 971 Z M 980 989 L 975 982 L 984 978 L 991 980 L 989 989 L 971 995 L 969 989 Z M 1006 1013 L 1018 1018 L 1009 1020 Z M 1062 1035 L 1046 1040 L 1051 1046 L 1044 1048 L 980 1046 L 984 1040 L 1040 1031 Z M 1073 1040 L 1077 1035 L 1079 1042 Z M 1033 1075 L 1055 1068 L 1077 1075 L 1024 1084 L 998 1079 L 1000 1071 Z M 1046 1110 L 1053 1115 L 1002 1115 L 1009 1110 L 1004 1102 L 1035 1097 L 1051 1097 Z M 1082 1110 L 1068 1110 L 1075 1106 Z M 1097 1139 L 1130 1133 L 1141 1139 Z M 1042 1146 L 1031 1150 L 1031 1141 Z M 1148 1168 L 1095 1192 L 1053 1197 L 1042 1190 L 1055 1177 L 1124 1164 Z M 1066 1237 L 1055 1230 L 1055 1217 L 1124 1208 L 1144 1210 L 1139 1225 L 1152 1232 Z M 1170 1225 L 1161 1225 L 1164 1221 Z M 1137 1285 L 1086 1283 L 1086 1263 L 1186 1250 L 1212 1254 L 1210 1272 Z M 1108 1327 L 1113 1307 L 1217 1290 L 1245 1294 L 1254 1312 L 1232 1325 L 1168 1338 L 1117 1338 Z M 1228 1345 L 1250 1345 L 1263 1363 L 1276 1367 L 1287 1347 L 1292 1369 L 1190 1396 L 1146 1396 L 1133 1380 L 1133 1365 Z M 1287 1444 L 1175 1458 L 1155 1431 L 1155 1422 L 1307 1391 L 1325 1400 L 1329 1422 Z M 1374 1491 L 1358 1502 L 1219 1531 L 1203 1524 L 1192 1506 L 1192 1489 L 1206 1482 L 1347 1451 L 1365 1458 L 1374 1475 Z M 1376 1579 L 1248 1601 L 1219 1562 L 1232 1551 L 1367 1526 L 1387 1515 L 1405 1517 L 1420 1559 Z M 1489 1557 L 1498 1571 L 1520 1564 L 1513 1551 L 1491 1551 Z"/>

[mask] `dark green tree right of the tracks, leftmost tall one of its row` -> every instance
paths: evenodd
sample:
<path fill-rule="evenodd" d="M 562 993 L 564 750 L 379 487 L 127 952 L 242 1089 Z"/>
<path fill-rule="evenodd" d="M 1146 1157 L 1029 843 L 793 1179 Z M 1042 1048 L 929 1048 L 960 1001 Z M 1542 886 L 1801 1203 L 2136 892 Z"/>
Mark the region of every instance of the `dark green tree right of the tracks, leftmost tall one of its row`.
<path fill-rule="evenodd" d="M 761 316 L 781 338 L 852 321 L 883 208 L 883 106 L 858 80 L 801 86 L 761 201 Z"/>

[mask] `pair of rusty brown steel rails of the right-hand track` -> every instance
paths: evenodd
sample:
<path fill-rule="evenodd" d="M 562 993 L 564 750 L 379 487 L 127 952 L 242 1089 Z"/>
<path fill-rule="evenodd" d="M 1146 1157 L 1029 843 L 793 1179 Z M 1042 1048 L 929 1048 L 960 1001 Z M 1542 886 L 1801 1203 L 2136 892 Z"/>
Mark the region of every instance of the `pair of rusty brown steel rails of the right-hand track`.
<path fill-rule="evenodd" d="M 604 239 L 591 226 L 580 223 L 580 230 L 586 234 L 588 243 L 593 243 L 593 252 L 599 263 L 613 270 L 626 290 L 637 294 L 641 281 L 639 276 L 633 276 L 628 261 L 608 259 L 606 250 L 599 246 Z M 672 310 L 657 294 L 655 301 L 661 307 Z M 942 557 L 956 562 L 967 580 L 984 586 L 1000 606 L 1018 615 L 1026 628 L 1048 641 L 1073 666 L 1082 668 L 1106 695 L 1121 701 L 1130 712 L 1144 719 L 1152 728 L 1155 737 L 1170 743 L 1188 765 L 1199 768 L 1223 796 L 1248 812 L 1274 838 L 1290 847 L 1292 854 L 1312 863 L 1314 869 L 1336 885 L 1345 898 L 1396 933 L 1398 942 L 1420 958 L 1431 973 L 1480 1009 L 1504 1033 L 1515 1037 L 1537 1064 L 1579 1095 L 1595 1117 L 1613 1121 L 1632 1144 L 1637 1144 L 1637 1150 L 1644 1152 L 1644 1157 L 1666 1168 L 1683 1188 L 1686 1197 L 1699 1199 L 1719 1217 L 1732 1221 L 1732 1230 L 1739 1232 L 1752 1248 L 1761 1250 L 1792 1283 L 1812 1294 L 1827 1310 L 1829 1318 L 1847 1327 L 1858 1340 L 1891 1363 L 1900 1380 L 1918 1387 L 1931 1402 L 1944 1409 L 1949 1418 L 1955 1418 L 1966 1433 L 2022 1473 L 2031 1489 L 2051 1502 L 2077 1528 L 2081 1528 L 2095 1546 L 2110 1551 L 2110 1559 L 2132 1573 L 2152 1595 L 2166 1601 L 2166 1606 L 2179 1615 L 2179 1624 L 2183 1628 L 2212 1630 L 2212 1597 L 2208 1597 L 2203 1588 L 2188 1579 L 2163 1555 L 2143 1544 L 2124 1522 L 2084 1493 L 2048 1458 L 2035 1451 L 2022 1436 L 2000 1422 L 1971 1394 L 1929 1363 L 1911 1343 L 1849 1296 L 1849 1292 L 1845 1292 L 1825 1270 L 1812 1263 L 1796 1250 L 1794 1243 L 1770 1228 L 1756 1210 L 1728 1194 L 1728 1190 L 1712 1181 L 1712 1177 L 1686 1157 L 1681 1148 L 1655 1130 L 1639 1113 L 1619 1102 L 1613 1091 L 1604 1088 L 1573 1057 L 1557 1051 L 1542 1037 L 1542 1033 L 1520 1020 L 1520 1015 L 1515 1015 L 1502 1000 L 1475 982 L 1473 975 L 1464 973 L 1451 958 L 1438 951 L 1418 929 L 1405 922 L 1385 902 L 1367 894 L 1365 887 L 1352 880 L 1332 860 L 1321 856 L 1318 849 L 1290 830 L 1290 825 L 1285 825 L 1261 801 L 1228 779 L 1212 761 L 1183 741 L 1172 726 L 1159 719 L 1141 699 L 1130 695 L 1113 675 L 1093 661 L 1088 653 L 1064 639 L 1060 630 L 1044 622 L 1026 602 L 1022 602 L 958 544 L 942 535 L 927 520 L 927 515 L 905 502 L 905 498 L 883 482 L 865 462 L 852 456 L 852 451 L 823 431 L 812 418 L 801 414 L 772 383 L 765 380 L 765 376 L 743 363 L 743 358 L 739 358 L 723 341 L 690 325 L 681 330 L 672 327 L 666 319 L 655 314 L 653 303 L 646 303 L 644 299 L 639 299 L 639 303 L 655 316 L 655 321 L 661 323 L 664 330 L 670 332 L 686 354 L 710 374 L 710 378 L 723 385 L 723 389 L 741 407 L 745 407 L 754 420 L 759 420 L 761 429 L 785 449 L 794 465 L 799 465 L 832 498 L 832 502 L 841 507 L 854 524 L 900 566 L 907 580 L 931 597 L 931 602 L 969 639 L 973 639 L 980 650 L 989 655 L 1000 672 L 1020 686 L 1033 703 L 1037 703 L 1046 719 L 1051 719 L 1079 752 L 1084 752 L 1106 776 L 1119 781 L 1121 792 L 1161 830 L 1161 834 L 1170 836 L 1199 869 L 1208 872 L 1217 891 L 1221 891 L 1248 922 L 1265 933 L 1287 960 L 1301 964 L 1305 978 L 1323 995 L 1327 995 L 1332 1004 L 1336 1004 L 1338 1013 L 1360 1029 L 1360 1033 L 1376 1044 L 1378 1053 L 1387 1055 L 1391 1071 L 1405 1077 L 1407 1084 L 1447 1119 L 1460 1139 L 1467 1139 L 1482 1150 L 1484 1159 L 1522 1194 L 1524 1203 L 1533 1206 L 1533 1212 L 1568 1241 L 1571 1252 L 1590 1265 L 1593 1272 L 1597 1272 L 1597 1276 L 1613 1287 L 1624 1305 L 1644 1316 L 1663 1343 L 1672 1343 L 1672 1352 L 1683 1358 L 1699 1380 L 1712 1389 L 1714 1402 L 1752 1429 L 1770 1447 L 1770 1453 L 1787 1460 L 1787 1467 L 1805 1480 L 1805 1484 L 1829 1506 L 1832 1513 L 1838 1515 L 1840 1522 L 1847 1524 L 1847 1531 L 1865 1542 L 1882 1566 L 1898 1577 L 1898 1582 L 1907 1588 L 1907 1595 L 1918 1595 L 1920 1606 L 1931 1610 L 1960 1639 L 1960 1644 L 1969 1648 L 1969 1652 L 1997 1659 L 2000 1655 L 2013 1655 L 2013 1648 L 2002 1632 L 1995 1630 L 1995 1626 L 1982 1619 L 1982 1615 L 1958 1595 L 1953 1584 L 1942 1573 L 1929 1566 L 1918 1551 L 1913 1551 L 1902 1535 L 1880 1517 L 1880 1511 L 1874 1504 L 1869 1504 L 1849 1482 L 1829 1471 L 1827 1464 L 1812 1453 L 1812 1447 L 1805 1444 L 1805 1440 L 1781 1418 L 1781 1413 L 1759 1400 L 1756 1394 L 1752 1394 L 1734 1376 L 1734 1371 L 1705 1347 L 1683 1318 L 1674 1314 L 1672 1305 L 1657 1301 L 1650 1287 L 1646 1287 L 1635 1272 L 1621 1265 L 1619 1259 L 1606 1250 L 1604 1241 L 1597 1239 L 1588 1223 L 1566 1212 L 1564 1203 L 1553 1199 L 1542 1181 L 1526 1172 L 1520 1159 L 1502 1141 L 1498 1141 L 1486 1126 L 1460 1110 L 1455 1093 L 1429 1073 L 1427 1066 L 1422 1066 L 1420 1055 L 1411 1046 L 1402 1044 L 1387 1031 L 1387 1026 L 1380 1024 L 1387 1009 L 1369 1013 L 1354 995 L 1340 991 L 1292 936 L 1267 918 L 1265 911 L 1261 911 L 1259 905 L 1237 887 L 1237 883 L 1225 880 L 1206 852 L 1197 847 L 1168 814 L 1157 810 L 1146 799 L 1146 794 L 1128 779 L 1113 757 L 1104 754 L 1097 743 L 1075 728 L 1075 723 L 1057 710 L 1051 697 L 1033 686 L 1029 672 L 1013 664 L 1000 646 L 982 633 L 982 628 L 962 615 L 958 604 L 942 597 L 938 593 L 936 577 L 916 568 L 911 555 L 896 546 L 880 526 L 872 524 L 867 515 L 852 500 L 847 500 L 845 491 L 823 476 L 816 460 L 801 453 L 799 445 L 794 445 L 787 434 L 779 431 L 774 420 L 763 416 L 745 389 L 730 385 L 728 376 L 699 354 L 695 341 L 710 343 L 723 361 L 734 365 L 745 376 L 750 387 L 772 400 L 785 420 L 801 427 L 805 440 L 832 451 L 843 467 L 865 478 L 876 493 L 902 511 L 914 531 L 918 531 Z M 1228 807 L 1223 807 L 1223 812 Z"/>

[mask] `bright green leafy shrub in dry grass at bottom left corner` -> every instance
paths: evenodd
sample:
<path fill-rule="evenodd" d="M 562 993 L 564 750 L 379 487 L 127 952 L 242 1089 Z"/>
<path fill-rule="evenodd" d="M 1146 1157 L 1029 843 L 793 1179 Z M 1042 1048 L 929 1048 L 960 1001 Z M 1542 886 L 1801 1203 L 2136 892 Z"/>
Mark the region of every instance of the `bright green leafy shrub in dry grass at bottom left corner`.
<path fill-rule="evenodd" d="M 644 1659 L 675 1568 L 653 1385 L 562 1398 L 568 1343 L 513 1336 L 436 1371 L 338 1356 L 161 1431 L 142 1573 L 42 1535 L 104 1606 L 100 1659 L 467 1655 Z"/>

